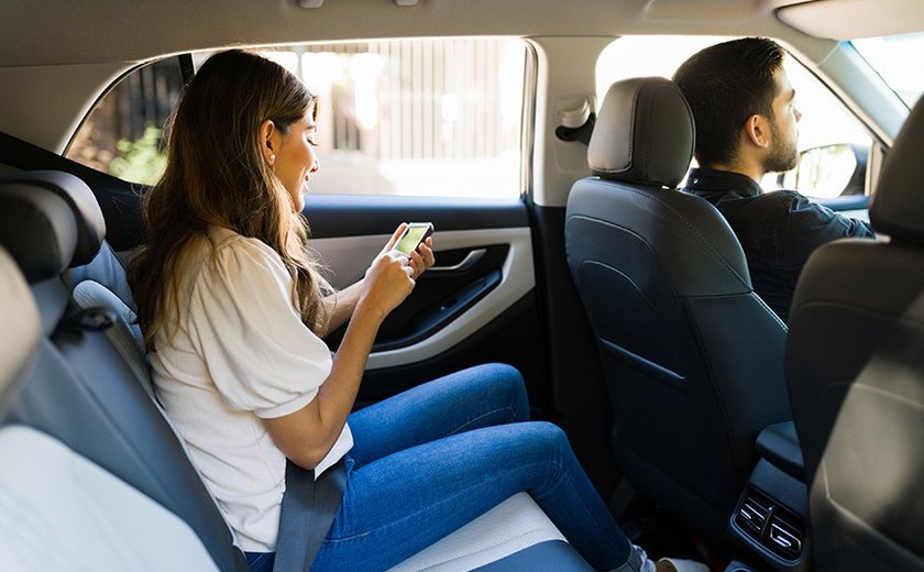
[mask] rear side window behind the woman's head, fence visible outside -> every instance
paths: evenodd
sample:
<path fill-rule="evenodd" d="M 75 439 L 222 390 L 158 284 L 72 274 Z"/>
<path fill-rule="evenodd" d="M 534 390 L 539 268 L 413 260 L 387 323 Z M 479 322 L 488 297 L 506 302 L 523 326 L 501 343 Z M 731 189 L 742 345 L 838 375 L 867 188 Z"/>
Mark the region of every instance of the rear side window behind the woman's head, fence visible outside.
<path fill-rule="evenodd" d="M 261 51 L 318 96 L 321 168 L 312 193 L 451 197 L 521 193 L 527 53 L 522 40 L 492 37 Z M 208 55 L 195 54 L 194 63 Z M 140 73 L 150 75 L 146 69 Z M 156 108 L 169 110 L 176 94 L 155 92 L 163 96 Z M 166 114 L 142 118 L 150 107 L 142 103 L 145 95 L 122 85 L 113 89 L 67 156 L 134 183 L 156 180 Z M 106 113 L 116 113 L 118 121 L 97 119 Z"/>

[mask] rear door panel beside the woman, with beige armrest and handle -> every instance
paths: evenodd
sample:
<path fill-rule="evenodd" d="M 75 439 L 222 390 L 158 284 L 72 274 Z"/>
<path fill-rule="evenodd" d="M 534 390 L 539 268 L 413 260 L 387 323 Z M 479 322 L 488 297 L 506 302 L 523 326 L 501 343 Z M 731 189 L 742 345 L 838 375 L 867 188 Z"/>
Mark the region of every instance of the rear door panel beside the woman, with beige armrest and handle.
<path fill-rule="evenodd" d="M 402 221 L 429 221 L 436 267 L 383 323 L 360 400 L 374 402 L 468 365 L 501 361 L 526 377 L 534 405 L 548 403 L 537 356 L 532 233 L 519 198 L 311 196 L 311 248 L 337 288 L 360 279 Z M 344 329 L 326 340 L 336 349 Z M 538 352 L 542 353 L 542 352 Z"/>

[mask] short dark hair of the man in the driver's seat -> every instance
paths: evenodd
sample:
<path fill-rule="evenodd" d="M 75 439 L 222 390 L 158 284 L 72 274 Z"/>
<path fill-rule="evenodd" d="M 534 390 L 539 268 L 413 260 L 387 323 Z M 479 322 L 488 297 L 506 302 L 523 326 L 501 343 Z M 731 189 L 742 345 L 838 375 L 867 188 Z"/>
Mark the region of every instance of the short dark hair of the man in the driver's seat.
<path fill-rule="evenodd" d="M 694 155 L 701 165 L 728 163 L 738 135 L 755 113 L 773 120 L 773 75 L 785 51 L 767 37 L 745 37 L 693 54 L 674 73 L 696 124 Z"/>

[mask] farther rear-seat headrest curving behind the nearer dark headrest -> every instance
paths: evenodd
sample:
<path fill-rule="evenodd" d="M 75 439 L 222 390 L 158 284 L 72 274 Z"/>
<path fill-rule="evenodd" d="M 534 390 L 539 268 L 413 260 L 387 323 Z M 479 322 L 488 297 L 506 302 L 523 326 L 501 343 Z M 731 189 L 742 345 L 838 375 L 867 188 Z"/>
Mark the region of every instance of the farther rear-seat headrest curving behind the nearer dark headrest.
<path fill-rule="evenodd" d="M 21 183 L 50 190 L 67 202 L 77 220 L 77 248 L 72 266 L 89 264 L 106 238 L 106 220 L 94 191 L 80 178 L 61 170 L 22 170 L 0 177 L 0 186 Z"/>

